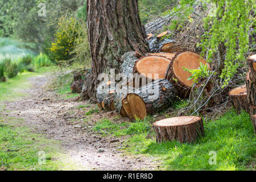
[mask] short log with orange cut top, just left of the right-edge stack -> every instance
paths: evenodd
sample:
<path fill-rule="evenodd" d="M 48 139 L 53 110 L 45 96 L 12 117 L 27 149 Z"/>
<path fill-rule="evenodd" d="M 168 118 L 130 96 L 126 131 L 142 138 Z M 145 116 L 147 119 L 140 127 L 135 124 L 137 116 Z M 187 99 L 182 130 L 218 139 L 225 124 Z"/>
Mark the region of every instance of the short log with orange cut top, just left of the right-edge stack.
<path fill-rule="evenodd" d="M 232 101 L 234 109 L 237 110 L 238 114 L 240 114 L 242 110 L 245 110 L 247 113 L 250 113 L 250 106 L 247 102 L 246 96 L 246 85 L 234 88 L 229 92 L 229 99 Z"/>

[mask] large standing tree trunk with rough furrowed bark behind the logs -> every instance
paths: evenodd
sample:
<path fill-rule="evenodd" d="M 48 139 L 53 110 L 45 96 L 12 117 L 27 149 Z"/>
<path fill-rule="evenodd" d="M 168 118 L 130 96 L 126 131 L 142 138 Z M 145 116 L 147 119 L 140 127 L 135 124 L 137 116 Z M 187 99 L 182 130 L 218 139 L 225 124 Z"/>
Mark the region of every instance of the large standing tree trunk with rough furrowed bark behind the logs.
<path fill-rule="evenodd" d="M 93 93 L 100 73 L 119 71 L 125 52 L 148 52 L 138 0 L 87 0 L 88 37 L 92 55 Z M 89 91 L 90 92 L 90 91 Z"/>

